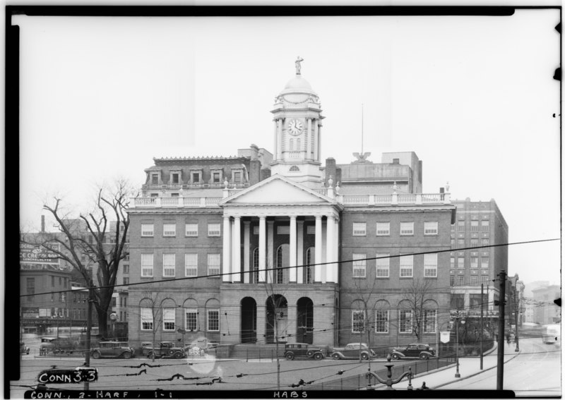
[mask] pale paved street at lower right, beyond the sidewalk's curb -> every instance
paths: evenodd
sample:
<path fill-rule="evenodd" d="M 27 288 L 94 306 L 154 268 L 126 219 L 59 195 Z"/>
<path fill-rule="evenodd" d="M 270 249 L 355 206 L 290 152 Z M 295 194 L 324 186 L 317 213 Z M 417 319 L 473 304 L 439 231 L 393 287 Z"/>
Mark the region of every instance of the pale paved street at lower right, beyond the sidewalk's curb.
<path fill-rule="evenodd" d="M 505 353 L 512 353 L 514 344 L 505 344 Z M 543 344 L 540 338 L 521 339 L 521 354 L 504 364 L 504 389 L 516 396 L 555 396 L 561 394 L 561 348 Z M 492 356 L 496 357 L 496 353 Z M 496 389 L 496 368 L 441 389 Z"/>

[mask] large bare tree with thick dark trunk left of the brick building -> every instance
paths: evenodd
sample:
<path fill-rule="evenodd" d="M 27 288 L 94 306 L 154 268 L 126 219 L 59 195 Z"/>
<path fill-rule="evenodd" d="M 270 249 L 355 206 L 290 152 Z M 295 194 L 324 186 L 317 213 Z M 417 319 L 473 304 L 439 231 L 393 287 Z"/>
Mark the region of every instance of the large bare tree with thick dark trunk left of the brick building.
<path fill-rule="evenodd" d="M 59 260 L 69 263 L 89 282 L 90 265 L 98 267 L 97 283 L 92 290 L 93 304 L 102 337 L 107 337 L 108 309 L 116 284 L 121 260 L 129 255 L 126 238 L 129 229 L 129 183 L 117 180 L 114 187 L 97 188 L 93 210 L 79 214 L 78 219 L 64 211 L 63 199 L 54 196 L 45 201 L 43 209 L 57 222 L 59 232 L 40 235 L 23 234 L 22 241 L 49 248 Z M 52 246 L 57 243 L 58 246 Z M 93 277 L 94 278 L 94 277 Z"/>

